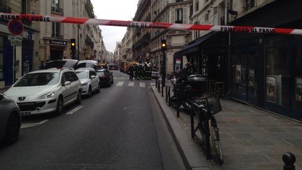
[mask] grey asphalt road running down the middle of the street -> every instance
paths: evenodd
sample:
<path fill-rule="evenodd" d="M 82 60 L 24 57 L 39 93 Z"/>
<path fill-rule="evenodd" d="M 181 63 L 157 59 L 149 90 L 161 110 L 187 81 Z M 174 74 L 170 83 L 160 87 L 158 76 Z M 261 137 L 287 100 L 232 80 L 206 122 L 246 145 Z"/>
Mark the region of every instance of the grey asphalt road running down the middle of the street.
<path fill-rule="evenodd" d="M 150 85 L 113 71 L 114 84 L 64 114 L 23 118 L 0 147 L 0 169 L 185 169 Z"/>

